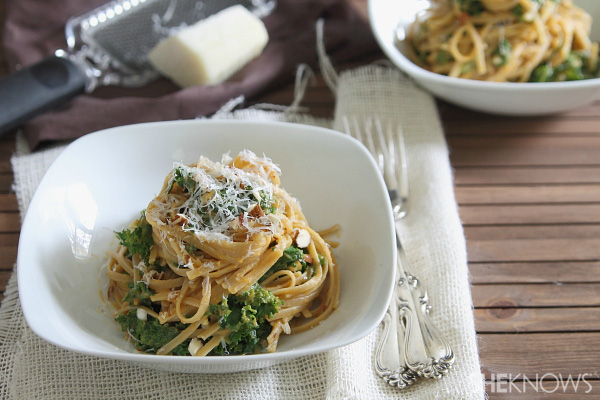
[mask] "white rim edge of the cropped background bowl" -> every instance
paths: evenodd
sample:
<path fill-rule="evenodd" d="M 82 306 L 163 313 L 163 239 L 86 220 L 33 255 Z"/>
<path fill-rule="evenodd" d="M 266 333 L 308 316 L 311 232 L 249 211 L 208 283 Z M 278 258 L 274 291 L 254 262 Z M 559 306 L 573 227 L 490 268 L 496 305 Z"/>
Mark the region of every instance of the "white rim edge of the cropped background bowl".
<path fill-rule="evenodd" d="M 379 13 L 377 7 L 379 3 L 385 3 L 386 0 L 369 0 L 368 12 L 369 19 L 376 21 Z M 598 22 L 600 23 L 600 21 Z M 444 85 L 452 85 L 456 87 L 472 88 L 472 89 L 493 89 L 501 92 L 511 91 L 563 91 L 565 89 L 589 88 L 593 86 L 600 87 L 600 78 L 584 79 L 581 81 L 566 81 L 566 82 L 487 82 L 476 81 L 472 79 L 455 78 L 446 75 L 436 74 L 428 71 L 417 64 L 413 63 L 408 57 L 398 49 L 390 38 L 386 38 L 383 32 L 377 26 L 373 26 L 375 39 L 379 46 L 384 50 L 386 55 L 398 63 L 398 67 L 403 69 L 409 75 L 414 75 L 419 78 L 426 79 L 430 82 Z M 599 95 L 600 97 L 600 95 Z"/>

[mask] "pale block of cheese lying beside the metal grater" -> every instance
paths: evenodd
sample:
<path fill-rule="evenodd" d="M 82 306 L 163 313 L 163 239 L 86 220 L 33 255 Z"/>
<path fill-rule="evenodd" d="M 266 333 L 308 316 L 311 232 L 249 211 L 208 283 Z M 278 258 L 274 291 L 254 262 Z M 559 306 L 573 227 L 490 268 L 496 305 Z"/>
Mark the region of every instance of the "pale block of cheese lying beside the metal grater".
<path fill-rule="evenodd" d="M 268 40 L 263 22 L 236 5 L 161 41 L 148 59 L 181 87 L 216 85 L 262 53 Z"/>

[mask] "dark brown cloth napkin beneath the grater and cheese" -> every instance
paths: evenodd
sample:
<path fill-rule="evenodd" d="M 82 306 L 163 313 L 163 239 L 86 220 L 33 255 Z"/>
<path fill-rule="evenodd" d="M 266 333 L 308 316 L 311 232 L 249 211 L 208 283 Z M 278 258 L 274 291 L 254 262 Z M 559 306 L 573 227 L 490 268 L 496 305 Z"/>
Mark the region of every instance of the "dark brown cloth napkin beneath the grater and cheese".
<path fill-rule="evenodd" d="M 7 0 L 4 49 L 11 70 L 65 49 L 71 16 L 106 0 Z M 218 110 L 229 99 L 246 99 L 294 79 L 299 64 L 317 65 L 315 24 L 324 19 L 325 47 L 333 62 L 377 50 L 368 24 L 344 0 L 278 0 L 264 19 L 269 43 L 260 57 L 228 82 L 179 89 L 161 78 L 143 88 L 103 87 L 36 117 L 23 133 L 33 150 L 43 142 L 69 140 L 113 126 L 189 119 Z"/>

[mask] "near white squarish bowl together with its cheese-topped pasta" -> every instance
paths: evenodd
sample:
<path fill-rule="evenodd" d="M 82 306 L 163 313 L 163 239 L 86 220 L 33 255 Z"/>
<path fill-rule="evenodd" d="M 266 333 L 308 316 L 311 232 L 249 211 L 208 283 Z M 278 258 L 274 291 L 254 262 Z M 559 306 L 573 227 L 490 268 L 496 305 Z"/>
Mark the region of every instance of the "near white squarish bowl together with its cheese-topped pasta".
<path fill-rule="evenodd" d="M 215 190 L 196 193 L 200 182 Z M 234 205 L 236 218 L 218 218 Z M 338 132 L 242 121 L 113 128 L 74 141 L 44 175 L 21 230 L 19 297 L 33 332 L 73 352 L 175 372 L 262 368 L 375 329 L 393 289 L 392 220 L 375 162 Z M 221 227 L 202 234 L 209 225 Z M 193 239 L 213 234 L 212 244 Z M 260 329 L 230 337 L 241 318 L 229 315 L 244 307 Z M 164 337 L 146 341 L 158 325 Z"/>

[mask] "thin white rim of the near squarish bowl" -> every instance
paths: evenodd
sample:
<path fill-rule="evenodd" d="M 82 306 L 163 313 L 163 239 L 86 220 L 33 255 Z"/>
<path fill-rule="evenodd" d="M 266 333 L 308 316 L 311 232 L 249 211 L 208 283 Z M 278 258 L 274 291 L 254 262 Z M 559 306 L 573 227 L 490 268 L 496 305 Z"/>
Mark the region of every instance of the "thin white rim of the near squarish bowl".
<path fill-rule="evenodd" d="M 375 161 L 370 156 L 368 150 L 366 150 L 366 148 L 364 148 L 364 146 L 362 146 L 358 141 L 356 141 L 353 138 L 348 137 L 347 135 L 343 135 L 339 132 L 336 132 L 336 131 L 333 131 L 330 129 L 326 129 L 326 128 L 312 127 L 312 126 L 307 126 L 307 125 L 291 124 L 291 123 L 284 123 L 284 122 L 249 122 L 249 121 L 219 121 L 219 120 L 166 121 L 166 122 L 157 122 L 157 123 L 137 124 L 137 126 L 150 126 L 150 125 L 160 125 L 160 124 L 169 124 L 169 125 L 173 125 L 175 127 L 178 126 L 179 124 L 181 124 L 181 125 L 185 125 L 185 124 L 215 124 L 215 125 L 221 124 L 221 125 L 229 125 L 229 126 L 232 126 L 235 128 L 241 128 L 246 125 L 262 125 L 262 126 L 276 126 L 276 127 L 280 127 L 281 129 L 286 129 L 286 127 L 289 127 L 289 126 L 297 126 L 297 127 L 301 127 L 302 129 L 311 129 L 313 131 L 318 131 L 322 135 L 330 135 L 330 136 L 336 137 L 337 140 L 355 142 L 355 146 L 358 146 L 358 148 L 360 148 L 360 151 L 363 152 L 367 156 L 367 158 L 370 160 L 371 166 L 375 170 L 377 170 Z M 88 140 L 96 140 L 103 136 L 110 138 L 112 135 L 114 135 L 115 132 L 118 132 L 119 130 L 122 130 L 123 128 L 127 128 L 127 126 L 106 129 L 106 130 L 91 133 L 82 138 L 79 138 L 79 139 L 75 140 L 70 146 L 68 146 L 67 149 L 61 155 L 59 155 L 59 158 L 63 157 L 63 155 L 67 153 L 67 150 L 69 149 L 69 147 L 73 147 L 77 143 L 81 143 L 82 141 L 88 141 Z M 46 172 L 45 176 L 47 176 L 48 174 L 51 174 L 52 169 L 53 169 L 53 165 L 50 166 L 50 168 Z M 45 180 L 44 178 L 42 179 L 39 187 L 42 187 L 44 185 L 44 180 Z M 383 191 L 385 191 L 385 184 L 383 182 L 383 179 L 380 177 L 379 174 L 376 175 L 376 178 L 379 180 L 379 186 L 382 188 Z M 41 201 L 41 199 L 39 198 L 39 190 L 36 190 L 36 192 L 34 193 L 32 199 L 31 199 L 31 202 L 30 202 L 30 208 L 31 208 L 31 205 L 34 205 L 35 203 L 40 202 L 40 201 Z M 392 245 L 392 248 L 394 249 L 393 264 L 395 265 L 396 253 L 395 253 L 395 241 L 393 239 L 394 227 L 393 227 L 393 218 L 392 218 L 392 214 L 391 214 L 391 208 L 389 210 L 384 210 L 384 212 L 388 214 L 387 220 L 389 220 L 389 226 L 382 227 L 382 229 L 385 228 L 385 230 L 387 232 L 391 233 L 392 237 L 390 238 L 390 240 L 391 240 L 391 243 L 393 243 L 393 245 Z M 34 221 L 32 221 L 31 218 L 32 217 L 30 216 L 30 213 L 28 212 L 23 221 L 22 234 L 25 233 L 25 235 L 23 235 L 23 236 L 27 236 L 28 235 L 27 232 L 29 232 L 31 229 L 33 229 L 31 226 L 34 223 Z M 18 285 L 19 285 L 20 296 L 22 295 L 22 293 L 24 291 L 24 287 L 25 287 L 24 285 L 26 285 L 25 276 L 27 274 L 28 268 L 31 268 L 30 266 L 24 264 L 23 254 L 25 252 L 25 249 L 23 248 L 23 243 L 24 243 L 23 241 L 19 242 L 18 257 L 17 257 L 17 259 L 18 259 L 18 262 L 17 262 L 17 264 L 18 264 L 18 267 L 17 267 L 18 268 L 17 269 Z M 21 273 L 19 273 L 19 272 L 21 272 Z M 391 279 L 389 280 L 389 286 L 379 288 L 379 294 L 381 296 L 384 296 L 387 299 L 386 303 L 389 300 L 389 298 L 391 298 L 393 285 L 394 285 L 393 284 L 393 282 L 394 282 L 393 275 L 395 273 L 395 268 L 393 267 L 393 265 L 390 266 L 389 272 L 392 274 L 392 276 L 390 276 Z M 29 301 L 30 300 L 23 302 L 23 300 L 22 300 L 23 313 L 25 315 L 25 319 L 28 322 L 30 321 L 28 316 L 30 314 L 30 306 L 31 306 L 29 304 Z M 277 363 L 277 362 L 297 358 L 300 356 L 322 353 L 322 352 L 325 352 L 328 350 L 332 350 L 334 348 L 348 345 L 357 340 L 360 340 L 360 339 L 364 338 L 366 335 L 368 335 L 370 332 L 372 332 L 372 330 L 374 330 L 377 327 L 377 325 L 383 319 L 385 311 L 386 311 L 385 308 L 382 308 L 379 311 L 379 315 L 377 315 L 375 318 L 372 319 L 373 323 L 371 324 L 371 326 L 368 326 L 367 329 L 364 329 L 360 336 L 356 335 L 355 337 L 353 337 L 352 340 L 348 339 L 343 342 L 325 345 L 325 346 L 313 348 L 311 350 L 300 348 L 300 349 L 291 349 L 291 350 L 275 352 L 275 353 L 261 353 L 261 354 L 228 356 L 228 357 L 227 356 L 226 357 L 157 356 L 157 355 L 141 354 L 141 353 L 99 352 L 99 351 L 95 351 L 95 350 L 88 351 L 85 349 L 74 349 L 74 348 L 71 348 L 68 345 L 66 345 L 64 342 L 56 341 L 54 339 L 51 339 L 51 338 L 48 338 L 47 336 L 45 336 L 43 331 L 40 329 L 40 326 L 38 326 L 38 324 L 35 324 L 35 323 L 30 324 L 30 327 L 38 336 L 42 337 L 44 340 L 46 340 L 60 348 L 63 348 L 63 349 L 69 350 L 69 351 L 74 351 L 76 353 L 90 355 L 90 356 L 96 356 L 96 357 L 100 357 L 100 358 L 134 362 L 134 363 L 139 363 L 142 365 L 144 365 L 144 364 L 146 364 L 146 365 L 148 365 L 148 364 L 154 364 L 154 365 L 177 364 L 180 366 L 194 366 L 194 367 L 217 366 L 217 369 L 218 369 L 218 366 L 245 364 L 245 365 L 257 365 L 256 368 L 260 368 L 261 366 L 271 365 L 272 363 Z M 239 368 L 239 369 L 235 369 L 235 370 L 241 371 L 241 370 L 252 369 L 252 368 L 254 368 L 254 367 Z M 196 370 L 195 372 L 211 372 L 211 371 Z M 222 372 L 222 371 L 217 370 L 216 372 Z"/>

